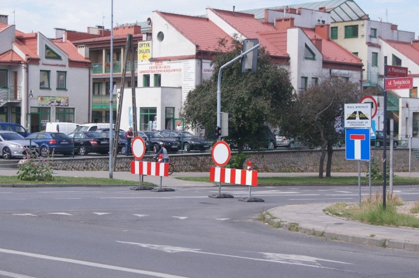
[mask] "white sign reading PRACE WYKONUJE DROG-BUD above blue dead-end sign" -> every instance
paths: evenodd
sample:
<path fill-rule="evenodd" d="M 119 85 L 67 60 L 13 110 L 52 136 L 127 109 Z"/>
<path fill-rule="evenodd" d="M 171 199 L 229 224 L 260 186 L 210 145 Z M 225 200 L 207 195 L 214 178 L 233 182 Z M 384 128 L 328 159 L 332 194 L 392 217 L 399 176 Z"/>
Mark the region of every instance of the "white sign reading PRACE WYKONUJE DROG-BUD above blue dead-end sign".
<path fill-rule="evenodd" d="M 370 128 L 371 103 L 345 104 L 345 128 Z"/>

